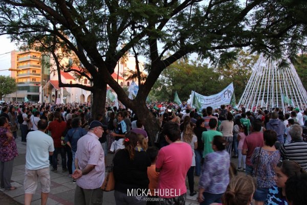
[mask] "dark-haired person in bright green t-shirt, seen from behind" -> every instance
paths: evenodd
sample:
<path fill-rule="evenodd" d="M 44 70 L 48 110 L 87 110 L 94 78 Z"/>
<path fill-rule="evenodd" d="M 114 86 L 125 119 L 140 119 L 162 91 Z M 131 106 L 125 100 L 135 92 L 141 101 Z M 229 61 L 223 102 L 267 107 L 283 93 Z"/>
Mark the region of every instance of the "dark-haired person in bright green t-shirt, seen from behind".
<path fill-rule="evenodd" d="M 205 157 L 206 154 L 214 152 L 213 149 L 212 149 L 213 137 L 216 136 L 216 135 L 223 136 L 223 134 L 221 132 L 216 131 L 217 120 L 215 118 L 211 118 L 209 120 L 209 127 L 210 127 L 210 129 L 208 131 L 203 132 L 203 134 L 202 134 L 202 141 L 204 142 L 203 157 Z"/>

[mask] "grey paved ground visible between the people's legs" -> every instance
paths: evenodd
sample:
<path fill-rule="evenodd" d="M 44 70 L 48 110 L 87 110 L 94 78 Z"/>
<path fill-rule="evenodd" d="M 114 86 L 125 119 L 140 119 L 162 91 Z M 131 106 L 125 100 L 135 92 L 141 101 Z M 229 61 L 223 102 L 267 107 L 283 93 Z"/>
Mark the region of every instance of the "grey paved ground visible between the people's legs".
<path fill-rule="evenodd" d="M 24 204 L 24 197 L 25 197 L 25 190 L 24 190 L 24 178 L 25 178 L 25 163 L 26 163 L 26 143 L 21 142 L 21 137 L 17 137 L 16 144 L 18 148 L 18 154 L 14 159 L 14 168 L 12 174 L 12 186 L 17 187 L 16 190 L 3 192 L 4 194 L 12 197 L 15 201 Z M 59 155 L 60 156 L 60 155 Z M 112 161 L 113 154 L 107 154 L 107 164 L 109 165 Z M 61 165 L 58 165 L 61 166 Z M 58 170 L 61 167 L 59 167 Z M 50 167 L 51 170 L 51 167 Z M 49 193 L 49 198 L 47 201 L 48 205 L 55 205 L 55 204 L 64 204 L 64 205 L 73 205 L 74 204 L 74 195 L 75 195 L 75 188 L 76 183 L 73 183 L 73 179 L 68 177 L 67 172 L 50 172 L 51 177 L 51 191 Z M 195 177 L 195 184 L 196 182 Z M 189 193 L 189 191 L 188 191 Z M 187 194 L 187 205 L 196 205 L 199 204 L 196 201 L 197 195 L 190 197 Z M 40 204 L 40 185 L 38 185 L 36 193 L 33 195 L 32 204 L 38 205 Z M 7 205 L 1 203 L 1 205 Z M 103 193 L 103 205 L 115 205 L 114 199 L 114 191 L 112 192 L 104 192 Z"/>

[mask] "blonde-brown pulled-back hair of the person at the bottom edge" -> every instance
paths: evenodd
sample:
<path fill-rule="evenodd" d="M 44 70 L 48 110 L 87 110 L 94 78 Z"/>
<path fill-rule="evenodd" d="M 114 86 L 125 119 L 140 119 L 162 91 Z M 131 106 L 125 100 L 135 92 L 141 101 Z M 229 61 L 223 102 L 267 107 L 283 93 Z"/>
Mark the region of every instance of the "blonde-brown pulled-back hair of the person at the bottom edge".
<path fill-rule="evenodd" d="M 251 176 L 236 176 L 230 180 L 222 196 L 222 203 L 224 205 L 246 205 L 250 202 L 255 190 L 255 181 Z"/>

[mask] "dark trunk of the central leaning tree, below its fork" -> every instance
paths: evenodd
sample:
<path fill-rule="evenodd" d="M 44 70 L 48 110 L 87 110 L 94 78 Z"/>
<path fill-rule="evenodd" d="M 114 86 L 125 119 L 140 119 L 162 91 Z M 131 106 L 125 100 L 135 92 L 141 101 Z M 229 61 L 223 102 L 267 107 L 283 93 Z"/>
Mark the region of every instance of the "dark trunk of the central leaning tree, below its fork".
<path fill-rule="evenodd" d="M 149 111 L 146 105 L 135 105 L 131 107 L 139 119 L 144 122 L 144 128 L 148 134 L 149 145 L 155 145 L 155 137 L 158 131 L 160 130 L 158 119 Z"/>

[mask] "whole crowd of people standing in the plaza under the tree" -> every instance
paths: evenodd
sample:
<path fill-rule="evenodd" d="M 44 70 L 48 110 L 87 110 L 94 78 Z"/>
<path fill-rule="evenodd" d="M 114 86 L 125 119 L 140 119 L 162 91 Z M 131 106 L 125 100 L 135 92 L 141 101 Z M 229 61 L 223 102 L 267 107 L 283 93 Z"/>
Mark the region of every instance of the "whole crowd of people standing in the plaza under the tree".
<path fill-rule="evenodd" d="M 155 136 L 125 108 L 107 106 L 93 118 L 87 104 L 3 105 L 1 189 L 16 189 L 10 178 L 20 129 L 27 145 L 25 204 L 31 204 L 38 182 L 46 204 L 50 171 L 60 171 L 58 161 L 76 183 L 74 204 L 102 204 L 100 188 L 111 168 L 116 204 L 185 204 L 187 194 L 198 194 L 202 205 L 306 203 L 307 111 L 253 113 L 222 105 L 198 112 L 185 103 L 151 103 L 148 109 L 160 126 Z"/>

